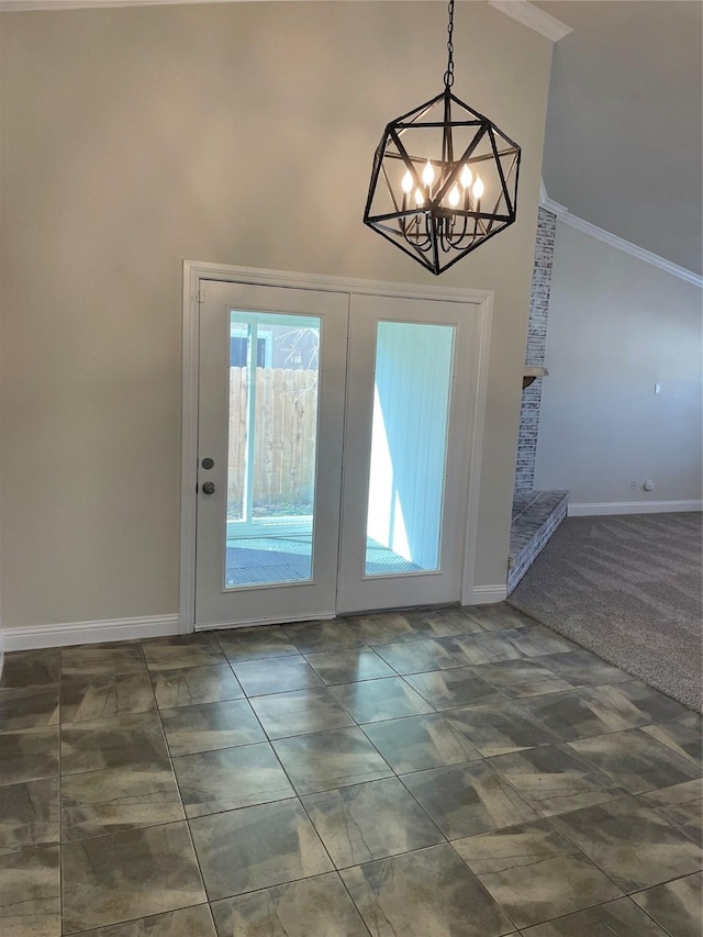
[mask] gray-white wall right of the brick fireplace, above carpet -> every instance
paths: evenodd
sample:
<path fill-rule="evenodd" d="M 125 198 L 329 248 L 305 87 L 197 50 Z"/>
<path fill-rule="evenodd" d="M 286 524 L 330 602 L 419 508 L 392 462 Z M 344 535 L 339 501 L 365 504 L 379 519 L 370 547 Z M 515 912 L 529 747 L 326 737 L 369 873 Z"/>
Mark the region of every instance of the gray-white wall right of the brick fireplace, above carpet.
<path fill-rule="evenodd" d="M 701 297 L 557 224 L 535 488 L 572 505 L 700 501 Z"/>

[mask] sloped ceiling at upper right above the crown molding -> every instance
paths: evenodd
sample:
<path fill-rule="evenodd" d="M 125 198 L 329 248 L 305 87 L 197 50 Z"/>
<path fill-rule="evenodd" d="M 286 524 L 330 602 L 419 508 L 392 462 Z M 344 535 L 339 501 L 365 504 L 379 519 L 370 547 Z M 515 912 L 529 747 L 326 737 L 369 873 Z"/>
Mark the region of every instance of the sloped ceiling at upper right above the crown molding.
<path fill-rule="evenodd" d="M 569 211 L 701 274 L 703 3 L 533 0 L 554 47 L 543 179 Z"/>

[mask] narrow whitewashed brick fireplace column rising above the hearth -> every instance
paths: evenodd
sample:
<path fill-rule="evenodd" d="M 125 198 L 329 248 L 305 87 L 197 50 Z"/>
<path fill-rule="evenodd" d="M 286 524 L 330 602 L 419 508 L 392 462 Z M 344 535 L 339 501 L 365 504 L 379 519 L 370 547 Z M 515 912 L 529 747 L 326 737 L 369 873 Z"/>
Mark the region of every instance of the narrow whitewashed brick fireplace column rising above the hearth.
<path fill-rule="evenodd" d="M 537 243 L 529 295 L 529 325 L 527 326 L 527 350 L 525 354 L 525 364 L 537 367 L 545 362 L 556 231 L 557 216 L 540 208 L 537 220 Z M 542 381 L 542 378 L 537 378 L 523 391 L 517 439 L 517 465 L 515 467 L 515 491 L 532 491 L 535 484 Z"/>

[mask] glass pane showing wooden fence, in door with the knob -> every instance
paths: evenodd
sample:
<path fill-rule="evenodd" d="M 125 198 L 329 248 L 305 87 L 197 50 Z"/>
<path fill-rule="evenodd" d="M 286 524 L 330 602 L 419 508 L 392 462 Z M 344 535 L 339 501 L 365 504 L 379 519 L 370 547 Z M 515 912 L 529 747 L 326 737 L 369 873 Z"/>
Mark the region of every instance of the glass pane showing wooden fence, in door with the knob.
<path fill-rule="evenodd" d="M 230 313 L 224 588 L 312 578 L 321 319 Z"/>

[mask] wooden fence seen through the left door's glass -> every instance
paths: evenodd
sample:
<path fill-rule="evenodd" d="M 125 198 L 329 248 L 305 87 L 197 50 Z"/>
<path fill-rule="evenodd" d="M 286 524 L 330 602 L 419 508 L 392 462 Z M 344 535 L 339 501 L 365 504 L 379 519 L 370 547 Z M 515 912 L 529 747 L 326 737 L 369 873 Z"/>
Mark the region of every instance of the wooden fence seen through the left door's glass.
<path fill-rule="evenodd" d="M 242 504 L 246 472 L 247 375 L 230 368 L 230 465 L 227 500 Z M 254 506 L 313 500 L 317 430 L 317 371 L 256 369 Z"/>

